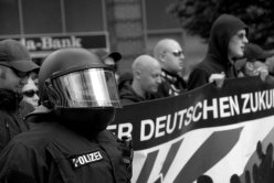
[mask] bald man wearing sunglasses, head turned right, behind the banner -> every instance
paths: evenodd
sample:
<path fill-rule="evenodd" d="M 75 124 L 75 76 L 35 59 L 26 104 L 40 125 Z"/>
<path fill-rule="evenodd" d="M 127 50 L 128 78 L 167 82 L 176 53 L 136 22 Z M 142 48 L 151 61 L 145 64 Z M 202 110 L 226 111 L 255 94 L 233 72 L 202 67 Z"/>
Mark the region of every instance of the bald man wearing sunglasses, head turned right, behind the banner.
<path fill-rule="evenodd" d="M 155 49 L 154 56 L 161 65 L 162 83 L 157 96 L 177 96 L 187 89 L 187 83 L 179 76 L 183 68 L 185 55 L 180 44 L 172 39 L 160 40 Z"/>

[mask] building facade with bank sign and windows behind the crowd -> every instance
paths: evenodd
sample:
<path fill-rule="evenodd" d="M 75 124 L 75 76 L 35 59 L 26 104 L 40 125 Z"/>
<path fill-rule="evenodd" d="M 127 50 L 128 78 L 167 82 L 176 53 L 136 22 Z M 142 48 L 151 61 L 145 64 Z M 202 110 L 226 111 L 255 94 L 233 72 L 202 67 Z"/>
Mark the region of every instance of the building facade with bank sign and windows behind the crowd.
<path fill-rule="evenodd" d="M 38 64 L 67 46 L 117 51 L 124 72 L 162 37 L 182 44 L 183 31 L 167 13 L 173 1 L 0 0 L 0 39 L 20 40 Z"/>

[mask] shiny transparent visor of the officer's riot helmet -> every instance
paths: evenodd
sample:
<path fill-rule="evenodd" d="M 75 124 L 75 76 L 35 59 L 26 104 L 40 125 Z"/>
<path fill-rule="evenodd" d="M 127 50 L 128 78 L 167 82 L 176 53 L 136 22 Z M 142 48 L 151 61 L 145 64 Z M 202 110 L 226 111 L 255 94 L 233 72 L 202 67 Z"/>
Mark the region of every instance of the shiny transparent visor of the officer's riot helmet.
<path fill-rule="evenodd" d="M 76 71 L 51 79 L 48 86 L 55 106 L 120 107 L 114 72 L 106 68 Z"/>

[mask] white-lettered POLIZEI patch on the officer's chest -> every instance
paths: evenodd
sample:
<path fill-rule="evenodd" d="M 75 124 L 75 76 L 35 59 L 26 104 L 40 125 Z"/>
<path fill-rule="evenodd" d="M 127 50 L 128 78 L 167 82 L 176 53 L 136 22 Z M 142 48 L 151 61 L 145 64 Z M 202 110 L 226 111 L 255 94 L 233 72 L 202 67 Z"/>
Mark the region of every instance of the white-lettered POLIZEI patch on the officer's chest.
<path fill-rule="evenodd" d="M 87 154 L 82 154 L 82 155 L 72 158 L 71 161 L 72 161 L 72 165 L 74 168 L 81 168 L 83 165 L 101 161 L 102 159 L 103 159 L 103 157 L 102 157 L 101 152 L 95 151 L 95 152 L 91 152 Z"/>

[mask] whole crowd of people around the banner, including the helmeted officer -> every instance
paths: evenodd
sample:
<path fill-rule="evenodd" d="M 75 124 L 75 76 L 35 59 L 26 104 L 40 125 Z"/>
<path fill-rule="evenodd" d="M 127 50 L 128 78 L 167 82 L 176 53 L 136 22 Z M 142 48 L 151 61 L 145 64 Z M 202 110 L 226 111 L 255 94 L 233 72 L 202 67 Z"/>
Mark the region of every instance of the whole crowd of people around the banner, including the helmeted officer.
<path fill-rule="evenodd" d="M 39 66 L 20 42 L 0 41 L 0 182 L 130 182 L 130 138 L 106 130 L 116 108 L 208 83 L 222 87 L 225 78 L 274 83 L 274 52 L 249 43 L 247 33 L 236 17 L 219 17 L 188 80 L 172 39 L 159 40 L 152 55 L 139 55 L 120 75 L 117 52 L 62 49 Z"/>

